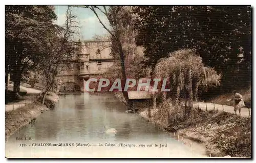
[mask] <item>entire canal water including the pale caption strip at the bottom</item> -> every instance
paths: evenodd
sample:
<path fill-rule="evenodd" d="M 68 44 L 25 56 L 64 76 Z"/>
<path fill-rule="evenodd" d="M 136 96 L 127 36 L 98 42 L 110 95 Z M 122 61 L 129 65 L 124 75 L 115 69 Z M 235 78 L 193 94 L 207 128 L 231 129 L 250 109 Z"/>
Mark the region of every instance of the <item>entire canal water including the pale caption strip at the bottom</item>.
<path fill-rule="evenodd" d="M 34 124 L 24 126 L 7 140 L 6 156 L 205 157 L 203 149 L 184 145 L 140 115 L 125 110 L 113 94 L 62 95 L 55 109 L 42 113 Z"/>

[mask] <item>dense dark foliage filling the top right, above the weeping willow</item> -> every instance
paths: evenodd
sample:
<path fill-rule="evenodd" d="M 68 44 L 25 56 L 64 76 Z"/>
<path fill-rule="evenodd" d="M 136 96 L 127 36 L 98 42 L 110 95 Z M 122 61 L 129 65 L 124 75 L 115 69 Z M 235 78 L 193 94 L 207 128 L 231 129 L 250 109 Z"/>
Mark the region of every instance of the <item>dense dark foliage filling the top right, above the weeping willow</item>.
<path fill-rule="evenodd" d="M 248 85 L 244 79 L 251 79 L 251 7 L 135 6 L 134 14 L 146 65 L 154 69 L 170 52 L 196 49 L 205 65 L 222 74 L 223 89 Z"/>

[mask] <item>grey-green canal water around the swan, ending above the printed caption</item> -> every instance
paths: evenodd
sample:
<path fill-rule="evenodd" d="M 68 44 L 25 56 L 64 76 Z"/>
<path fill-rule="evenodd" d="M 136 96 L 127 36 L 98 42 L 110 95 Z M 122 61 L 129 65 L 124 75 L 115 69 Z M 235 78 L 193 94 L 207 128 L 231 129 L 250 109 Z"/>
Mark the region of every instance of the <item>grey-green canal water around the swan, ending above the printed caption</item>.
<path fill-rule="evenodd" d="M 7 145 L 14 143 L 18 146 L 20 142 L 16 137 L 26 136 L 32 138 L 31 143 L 168 143 L 168 150 L 187 150 L 167 132 L 136 114 L 125 113 L 125 110 L 126 106 L 112 94 L 63 95 L 54 110 L 42 113 L 33 126 L 29 124 L 20 129 L 8 139 Z M 117 132 L 105 133 L 106 125 Z"/>

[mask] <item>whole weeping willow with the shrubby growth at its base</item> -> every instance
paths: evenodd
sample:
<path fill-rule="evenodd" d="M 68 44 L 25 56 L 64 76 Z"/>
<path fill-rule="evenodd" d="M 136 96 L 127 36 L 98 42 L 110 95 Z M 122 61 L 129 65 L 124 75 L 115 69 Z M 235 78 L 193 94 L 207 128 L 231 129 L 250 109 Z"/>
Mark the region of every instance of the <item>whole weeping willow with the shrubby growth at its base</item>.
<path fill-rule="evenodd" d="M 158 105 L 157 119 L 173 123 L 194 118 L 194 101 L 198 101 L 198 90 L 206 91 L 208 87 L 220 85 L 221 76 L 214 68 L 205 66 L 202 58 L 190 49 L 178 50 L 162 58 L 156 64 L 154 78 L 167 78 L 170 92 L 158 92 L 153 98 L 156 108 L 156 98 L 161 94 L 162 103 Z"/>

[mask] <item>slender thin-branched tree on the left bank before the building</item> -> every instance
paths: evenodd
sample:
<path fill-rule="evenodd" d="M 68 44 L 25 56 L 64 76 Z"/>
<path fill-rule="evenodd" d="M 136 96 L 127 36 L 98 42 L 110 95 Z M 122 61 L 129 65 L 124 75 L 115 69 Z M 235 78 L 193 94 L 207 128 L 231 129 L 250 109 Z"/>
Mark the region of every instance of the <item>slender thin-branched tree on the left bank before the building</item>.
<path fill-rule="evenodd" d="M 48 92 L 58 84 L 56 76 L 69 64 L 67 61 L 75 57 L 80 49 L 80 43 L 75 41 L 75 35 L 79 33 L 79 22 L 72 10 L 68 7 L 66 21 L 63 27 L 55 25 L 47 35 L 47 42 L 43 44 L 44 53 L 41 55 L 39 71 L 44 77 L 44 90 L 41 94 L 41 102 L 45 103 Z"/>

